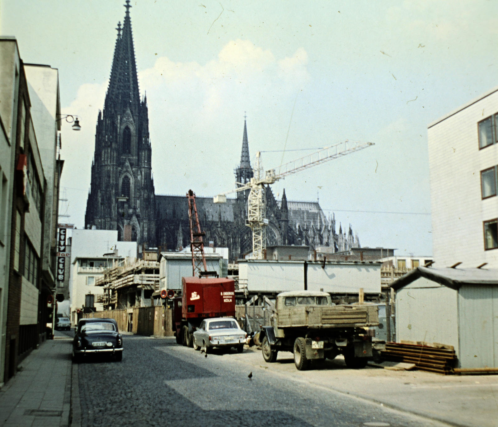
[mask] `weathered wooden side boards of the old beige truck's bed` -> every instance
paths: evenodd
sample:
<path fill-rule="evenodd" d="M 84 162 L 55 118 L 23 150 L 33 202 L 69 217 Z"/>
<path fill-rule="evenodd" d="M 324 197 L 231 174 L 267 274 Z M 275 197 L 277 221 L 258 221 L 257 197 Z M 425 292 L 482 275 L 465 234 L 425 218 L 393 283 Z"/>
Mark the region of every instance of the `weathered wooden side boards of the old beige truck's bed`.
<path fill-rule="evenodd" d="M 278 311 L 278 328 L 361 328 L 377 326 L 375 305 L 289 307 Z"/>

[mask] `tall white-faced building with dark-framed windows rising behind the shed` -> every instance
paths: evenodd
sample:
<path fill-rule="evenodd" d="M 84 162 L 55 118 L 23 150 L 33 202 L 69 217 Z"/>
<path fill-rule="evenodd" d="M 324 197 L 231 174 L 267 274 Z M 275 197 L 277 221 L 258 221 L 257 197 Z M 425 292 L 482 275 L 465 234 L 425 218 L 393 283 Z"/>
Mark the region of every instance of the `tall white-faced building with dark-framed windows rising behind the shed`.
<path fill-rule="evenodd" d="M 428 127 L 437 267 L 498 267 L 498 87 Z"/>

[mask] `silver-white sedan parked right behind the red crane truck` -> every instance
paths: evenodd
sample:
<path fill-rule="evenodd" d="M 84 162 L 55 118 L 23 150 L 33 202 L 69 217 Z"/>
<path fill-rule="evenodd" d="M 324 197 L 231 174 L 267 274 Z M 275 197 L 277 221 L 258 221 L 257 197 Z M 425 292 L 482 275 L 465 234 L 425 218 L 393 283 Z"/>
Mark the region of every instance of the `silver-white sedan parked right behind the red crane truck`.
<path fill-rule="evenodd" d="M 194 332 L 194 349 L 199 350 L 202 347 L 207 353 L 212 347 L 235 347 L 242 353 L 247 338 L 246 332 L 231 317 L 206 319 Z"/>

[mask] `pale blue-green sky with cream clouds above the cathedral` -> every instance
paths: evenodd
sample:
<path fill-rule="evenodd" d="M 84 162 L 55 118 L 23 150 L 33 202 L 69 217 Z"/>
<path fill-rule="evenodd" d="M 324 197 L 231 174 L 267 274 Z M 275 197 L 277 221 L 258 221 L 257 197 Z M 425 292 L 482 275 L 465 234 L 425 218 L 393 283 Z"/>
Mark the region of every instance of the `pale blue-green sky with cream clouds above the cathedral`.
<path fill-rule="evenodd" d="M 78 228 L 123 3 L 0 3 L 0 33 L 17 38 L 25 63 L 59 70 L 62 112 L 80 118 L 80 132 L 65 122 L 61 131 L 61 222 Z M 319 199 L 362 247 L 432 254 L 427 125 L 497 85 L 494 2 L 131 5 L 156 194 L 232 189 L 245 115 L 251 165 L 261 151 L 264 169 L 345 140 L 373 142 L 276 182 L 274 195 Z"/>

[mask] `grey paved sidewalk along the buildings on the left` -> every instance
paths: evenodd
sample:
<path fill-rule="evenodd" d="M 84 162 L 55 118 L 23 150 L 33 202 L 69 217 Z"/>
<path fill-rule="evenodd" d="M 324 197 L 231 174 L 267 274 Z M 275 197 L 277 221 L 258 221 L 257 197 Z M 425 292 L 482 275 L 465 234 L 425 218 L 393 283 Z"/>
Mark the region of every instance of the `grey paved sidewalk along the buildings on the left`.
<path fill-rule="evenodd" d="M 0 389 L 0 427 L 69 426 L 70 338 L 43 342 Z"/>

